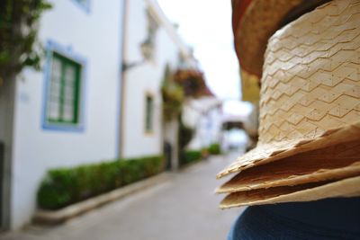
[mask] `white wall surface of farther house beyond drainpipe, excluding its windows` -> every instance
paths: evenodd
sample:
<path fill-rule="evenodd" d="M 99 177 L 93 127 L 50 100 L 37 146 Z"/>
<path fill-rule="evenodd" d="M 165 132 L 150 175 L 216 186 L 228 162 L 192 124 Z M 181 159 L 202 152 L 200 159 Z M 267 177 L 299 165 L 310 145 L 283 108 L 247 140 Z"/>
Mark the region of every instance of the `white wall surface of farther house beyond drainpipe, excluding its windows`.
<path fill-rule="evenodd" d="M 172 24 L 167 21 L 154 1 L 128 1 L 128 20 L 125 47 L 125 62 L 128 64 L 143 59 L 141 43 L 148 36 L 147 8 L 153 11 L 158 23 L 157 43 L 154 61 L 128 69 L 124 76 L 126 91 L 124 97 L 124 114 L 122 128 L 123 157 L 150 156 L 162 153 L 162 102 L 160 87 L 166 64 L 175 69 L 180 51 L 186 49 L 176 35 Z M 188 54 L 185 52 L 184 54 Z M 154 130 L 145 131 L 145 96 L 151 93 L 155 100 Z"/>

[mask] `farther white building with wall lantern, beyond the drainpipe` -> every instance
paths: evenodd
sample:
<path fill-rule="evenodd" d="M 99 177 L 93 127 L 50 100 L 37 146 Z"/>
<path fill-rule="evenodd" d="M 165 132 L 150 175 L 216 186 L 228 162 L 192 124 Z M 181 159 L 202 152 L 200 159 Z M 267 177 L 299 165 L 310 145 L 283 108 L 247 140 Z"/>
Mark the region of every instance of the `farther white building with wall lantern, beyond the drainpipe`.
<path fill-rule="evenodd" d="M 127 1 L 125 26 L 121 156 L 159 155 L 166 65 L 193 65 L 192 51 L 155 0 Z"/>

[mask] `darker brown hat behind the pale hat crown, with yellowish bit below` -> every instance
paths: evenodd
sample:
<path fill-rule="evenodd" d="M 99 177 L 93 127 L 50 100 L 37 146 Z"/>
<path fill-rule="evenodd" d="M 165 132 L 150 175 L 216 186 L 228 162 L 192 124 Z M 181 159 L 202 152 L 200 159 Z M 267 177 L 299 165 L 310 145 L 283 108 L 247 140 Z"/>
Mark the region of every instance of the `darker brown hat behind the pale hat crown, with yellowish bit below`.
<path fill-rule="evenodd" d="M 302 13 L 329 0 L 232 0 L 235 50 L 241 68 L 242 99 L 258 102 L 267 40 Z"/>

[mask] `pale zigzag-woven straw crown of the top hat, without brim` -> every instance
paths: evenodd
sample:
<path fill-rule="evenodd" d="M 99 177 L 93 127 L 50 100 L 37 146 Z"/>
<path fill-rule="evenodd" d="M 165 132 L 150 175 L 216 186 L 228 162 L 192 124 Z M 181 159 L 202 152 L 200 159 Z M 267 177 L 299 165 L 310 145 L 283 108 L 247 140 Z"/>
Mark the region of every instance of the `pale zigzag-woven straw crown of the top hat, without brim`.
<path fill-rule="evenodd" d="M 268 41 L 259 143 L 318 138 L 360 120 L 360 1 L 333 1 Z"/>

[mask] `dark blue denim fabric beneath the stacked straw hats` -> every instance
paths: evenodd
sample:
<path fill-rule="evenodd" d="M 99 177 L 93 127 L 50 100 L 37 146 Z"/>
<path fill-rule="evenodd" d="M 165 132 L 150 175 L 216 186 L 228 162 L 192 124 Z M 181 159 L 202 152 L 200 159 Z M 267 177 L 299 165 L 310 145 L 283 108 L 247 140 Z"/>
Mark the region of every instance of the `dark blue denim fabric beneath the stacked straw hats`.
<path fill-rule="evenodd" d="M 228 236 L 228 240 L 264 239 L 360 239 L 360 198 L 249 207 Z"/>

